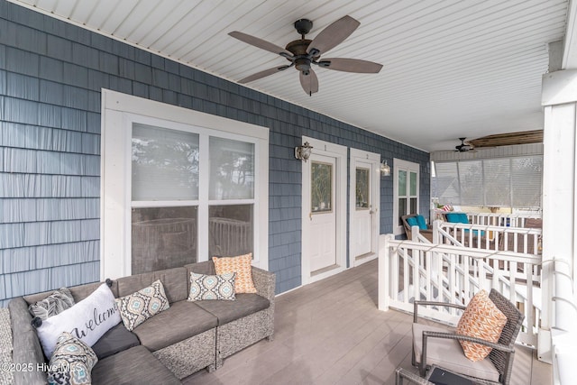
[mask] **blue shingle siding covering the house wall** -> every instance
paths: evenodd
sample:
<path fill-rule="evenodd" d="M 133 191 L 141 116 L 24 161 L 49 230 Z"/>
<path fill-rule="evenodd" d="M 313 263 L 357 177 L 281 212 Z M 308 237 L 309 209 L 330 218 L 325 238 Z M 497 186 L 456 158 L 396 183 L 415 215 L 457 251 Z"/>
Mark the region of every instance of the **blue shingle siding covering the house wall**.
<path fill-rule="evenodd" d="M 0 306 L 99 276 L 101 89 L 270 129 L 269 266 L 277 292 L 301 284 L 301 170 L 307 135 L 420 163 L 428 154 L 0 0 Z M 392 180 L 381 178 L 380 233 Z"/>

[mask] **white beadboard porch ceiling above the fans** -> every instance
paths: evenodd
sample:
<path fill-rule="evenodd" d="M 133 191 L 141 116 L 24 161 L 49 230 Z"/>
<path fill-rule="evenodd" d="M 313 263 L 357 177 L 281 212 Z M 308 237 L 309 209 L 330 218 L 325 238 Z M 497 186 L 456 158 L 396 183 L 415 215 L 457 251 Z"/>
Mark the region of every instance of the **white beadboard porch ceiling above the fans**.
<path fill-rule="evenodd" d="M 288 62 L 237 41 L 241 31 L 284 47 L 345 14 L 361 26 L 325 57 L 371 60 L 379 74 L 315 68 L 307 96 L 288 69 L 247 84 L 425 151 L 458 137 L 543 128 L 548 46 L 563 40 L 568 0 L 12 0 L 87 29 L 238 81 Z"/>

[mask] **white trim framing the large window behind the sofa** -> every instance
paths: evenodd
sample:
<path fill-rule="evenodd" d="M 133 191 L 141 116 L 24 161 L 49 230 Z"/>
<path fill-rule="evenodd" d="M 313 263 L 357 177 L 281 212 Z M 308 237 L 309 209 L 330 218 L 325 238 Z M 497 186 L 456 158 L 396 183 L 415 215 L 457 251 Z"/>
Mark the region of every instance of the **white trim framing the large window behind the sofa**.
<path fill-rule="evenodd" d="M 100 277 L 120 278 L 131 275 L 131 130 L 132 122 L 145 119 L 169 122 L 174 126 L 194 126 L 195 130 L 219 136 L 255 142 L 254 252 L 252 264 L 268 270 L 269 258 L 269 129 L 216 115 L 188 110 L 176 105 L 102 90 L 101 135 L 101 213 Z M 239 133 L 242 133 L 239 134 Z M 200 183 L 202 183 L 202 176 Z M 206 181 L 204 181 L 206 182 Z M 120 198 L 119 198 L 120 197 Z M 178 202 L 194 204 L 197 201 Z M 248 200 L 243 200 L 247 203 Z M 226 201 L 226 204 L 234 203 Z M 175 202 L 175 204 L 177 204 Z M 150 206 L 138 202 L 133 206 Z M 198 221 L 208 220 L 208 213 L 198 212 Z M 199 238 L 207 236 L 206 226 L 198 226 Z M 206 261 L 207 250 L 198 249 L 198 261 Z"/>

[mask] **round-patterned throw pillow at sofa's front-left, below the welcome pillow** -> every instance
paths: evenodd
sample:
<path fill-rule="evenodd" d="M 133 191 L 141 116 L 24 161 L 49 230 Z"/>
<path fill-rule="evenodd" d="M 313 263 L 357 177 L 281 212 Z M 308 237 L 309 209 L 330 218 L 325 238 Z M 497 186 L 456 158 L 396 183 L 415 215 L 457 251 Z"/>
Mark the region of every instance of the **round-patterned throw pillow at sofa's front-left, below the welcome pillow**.
<path fill-rule="evenodd" d="M 87 344 L 67 332 L 60 335 L 48 365 L 48 383 L 79 385 L 92 382 L 92 368 L 98 362 Z"/>

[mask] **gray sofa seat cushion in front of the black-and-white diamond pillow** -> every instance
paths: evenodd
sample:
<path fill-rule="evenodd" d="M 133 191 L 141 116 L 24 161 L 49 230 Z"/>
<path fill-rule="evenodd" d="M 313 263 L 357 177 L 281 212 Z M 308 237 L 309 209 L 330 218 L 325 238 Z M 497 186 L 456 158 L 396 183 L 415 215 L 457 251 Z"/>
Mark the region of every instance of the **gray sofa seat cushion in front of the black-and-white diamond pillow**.
<path fill-rule="evenodd" d="M 136 326 L 133 333 L 138 336 L 142 345 L 155 352 L 216 327 L 216 317 L 198 307 L 198 303 L 201 302 L 174 302 L 168 310 Z"/>

